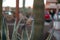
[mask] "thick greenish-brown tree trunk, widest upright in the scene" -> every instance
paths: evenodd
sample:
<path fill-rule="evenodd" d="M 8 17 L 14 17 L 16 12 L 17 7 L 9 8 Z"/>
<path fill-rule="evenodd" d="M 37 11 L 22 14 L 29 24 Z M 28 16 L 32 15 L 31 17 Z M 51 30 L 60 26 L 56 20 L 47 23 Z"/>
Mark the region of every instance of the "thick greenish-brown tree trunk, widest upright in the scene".
<path fill-rule="evenodd" d="M 35 33 L 33 40 L 43 40 L 44 0 L 34 0 Z"/>

